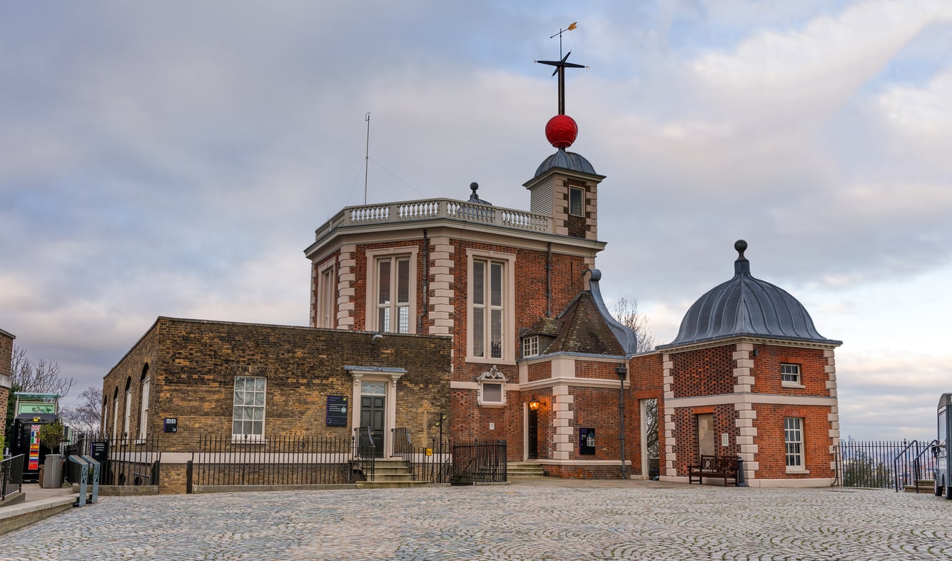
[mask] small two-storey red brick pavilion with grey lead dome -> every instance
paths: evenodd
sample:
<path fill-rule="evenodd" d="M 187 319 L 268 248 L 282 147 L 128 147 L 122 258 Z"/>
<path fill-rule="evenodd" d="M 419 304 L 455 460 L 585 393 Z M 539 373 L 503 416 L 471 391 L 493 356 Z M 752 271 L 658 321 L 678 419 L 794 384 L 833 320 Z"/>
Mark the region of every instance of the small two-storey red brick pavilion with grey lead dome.
<path fill-rule="evenodd" d="M 750 274 L 704 294 L 663 353 L 663 478 L 700 454 L 740 456 L 750 485 L 824 486 L 840 437 L 834 349 L 796 298 Z"/>

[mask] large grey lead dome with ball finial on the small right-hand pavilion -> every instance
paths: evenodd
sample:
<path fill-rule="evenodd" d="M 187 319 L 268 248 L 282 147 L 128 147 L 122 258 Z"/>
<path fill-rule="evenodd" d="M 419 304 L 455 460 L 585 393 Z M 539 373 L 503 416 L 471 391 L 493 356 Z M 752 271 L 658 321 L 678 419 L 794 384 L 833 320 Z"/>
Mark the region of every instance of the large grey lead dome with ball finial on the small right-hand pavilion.
<path fill-rule="evenodd" d="M 698 299 L 681 322 L 674 341 L 658 349 L 750 336 L 839 345 L 817 331 L 803 304 L 776 285 L 750 274 L 744 257 L 747 243 L 738 240 L 734 277 Z"/>

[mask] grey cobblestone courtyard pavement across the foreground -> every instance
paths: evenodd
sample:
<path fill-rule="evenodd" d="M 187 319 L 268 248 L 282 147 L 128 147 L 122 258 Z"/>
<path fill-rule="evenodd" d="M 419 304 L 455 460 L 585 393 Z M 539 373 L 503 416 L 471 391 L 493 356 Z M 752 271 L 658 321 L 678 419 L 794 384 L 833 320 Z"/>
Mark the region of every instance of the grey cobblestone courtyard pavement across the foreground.
<path fill-rule="evenodd" d="M 0 535 L 0 559 L 952 559 L 952 501 L 625 482 L 101 497 Z"/>

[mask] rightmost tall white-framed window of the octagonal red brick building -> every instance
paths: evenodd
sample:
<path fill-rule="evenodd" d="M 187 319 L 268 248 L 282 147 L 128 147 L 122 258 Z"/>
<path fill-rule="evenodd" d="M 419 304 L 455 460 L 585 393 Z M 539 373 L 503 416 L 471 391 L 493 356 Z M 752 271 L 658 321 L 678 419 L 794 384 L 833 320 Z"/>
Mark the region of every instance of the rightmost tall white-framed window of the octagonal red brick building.
<path fill-rule="evenodd" d="M 471 351 L 478 358 L 503 358 L 505 267 L 501 261 L 473 261 Z"/>

